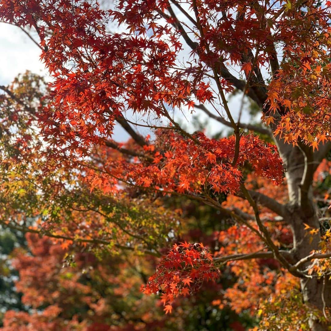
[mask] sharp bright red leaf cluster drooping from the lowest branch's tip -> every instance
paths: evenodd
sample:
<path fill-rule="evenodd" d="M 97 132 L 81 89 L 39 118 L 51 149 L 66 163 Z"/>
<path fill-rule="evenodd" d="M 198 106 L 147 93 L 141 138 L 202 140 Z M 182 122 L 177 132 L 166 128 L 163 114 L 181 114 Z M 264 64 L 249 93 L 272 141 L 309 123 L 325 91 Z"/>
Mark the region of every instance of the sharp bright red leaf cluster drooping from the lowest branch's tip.
<path fill-rule="evenodd" d="M 171 313 L 172 303 L 179 296 L 197 290 L 204 281 L 214 281 L 219 271 L 213 267 L 213 257 L 202 244 L 175 244 L 164 256 L 156 272 L 145 287 L 145 294 L 162 293 L 161 301 L 166 313 Z"/>

